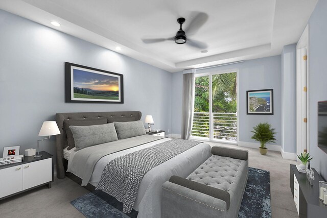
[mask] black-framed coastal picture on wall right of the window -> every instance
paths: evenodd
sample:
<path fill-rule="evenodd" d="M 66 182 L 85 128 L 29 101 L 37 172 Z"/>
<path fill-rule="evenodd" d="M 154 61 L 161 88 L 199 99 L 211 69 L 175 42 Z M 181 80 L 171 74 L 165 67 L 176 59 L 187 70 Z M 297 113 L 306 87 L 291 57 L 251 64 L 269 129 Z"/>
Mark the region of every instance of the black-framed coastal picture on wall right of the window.
<path fill-rule="evenodd" d="M 274 114 L 273 89 L 246 91 L 246 114 Z"/>

